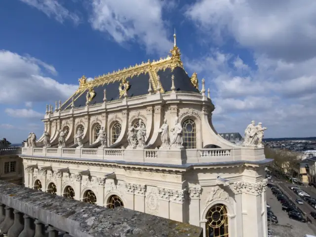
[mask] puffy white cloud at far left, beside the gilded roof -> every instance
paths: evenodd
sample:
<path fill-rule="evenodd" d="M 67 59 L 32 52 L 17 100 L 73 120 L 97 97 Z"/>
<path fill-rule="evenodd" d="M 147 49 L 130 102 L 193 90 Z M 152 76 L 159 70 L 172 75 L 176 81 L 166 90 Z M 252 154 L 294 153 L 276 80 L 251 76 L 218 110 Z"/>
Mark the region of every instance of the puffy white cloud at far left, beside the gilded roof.
<path fill-rule="evenodd" d="M 53 66 L 38 59 L 0 51 L 0 104 L 64 101 L 78 88 L 45 77 L 43 69 L 56 72 Z"/>

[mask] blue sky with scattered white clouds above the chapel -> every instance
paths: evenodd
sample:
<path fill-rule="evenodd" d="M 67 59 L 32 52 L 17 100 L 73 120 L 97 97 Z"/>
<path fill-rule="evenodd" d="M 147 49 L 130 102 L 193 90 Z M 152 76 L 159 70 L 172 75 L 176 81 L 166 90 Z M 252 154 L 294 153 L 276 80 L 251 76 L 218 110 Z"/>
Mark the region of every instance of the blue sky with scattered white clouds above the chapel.
<path fill-rule="evenodd" d="M 177 45 L 189 75 L 211 90 L 218 132 L 252 120 L 265 137 L 316 136 L 316 1 L 0 1 L 0 138 L 43 131 L 47 103 L 78 79 Z"/>

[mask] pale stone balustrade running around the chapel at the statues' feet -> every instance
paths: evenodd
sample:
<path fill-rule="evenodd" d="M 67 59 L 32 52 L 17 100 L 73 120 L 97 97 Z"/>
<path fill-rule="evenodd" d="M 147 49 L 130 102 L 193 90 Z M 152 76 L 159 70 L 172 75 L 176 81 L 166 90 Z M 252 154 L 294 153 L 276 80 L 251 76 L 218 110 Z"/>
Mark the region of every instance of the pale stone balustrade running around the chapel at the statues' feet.
<path fill-rule="evenodd" d="M 234 149 L 98 149 L 44 147 L 23 148 L 22 156 L 119 160 L 177 165 L 219 161 L 256 161 L 265 158 L 264 150 L 255 147 L 238 147 Z"/>

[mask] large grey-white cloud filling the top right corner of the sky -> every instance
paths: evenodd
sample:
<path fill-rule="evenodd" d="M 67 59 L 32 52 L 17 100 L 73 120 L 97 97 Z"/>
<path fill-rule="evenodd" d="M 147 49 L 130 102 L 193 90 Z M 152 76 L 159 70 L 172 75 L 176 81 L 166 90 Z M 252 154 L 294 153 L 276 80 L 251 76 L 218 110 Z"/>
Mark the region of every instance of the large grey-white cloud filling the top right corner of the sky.
<path fill-rule="evenodd" d="M 186 16 L 218 41 L 232 36 L 271 58 L 302 61 L 316 55 L 316 1 L 200 0 Z"/>

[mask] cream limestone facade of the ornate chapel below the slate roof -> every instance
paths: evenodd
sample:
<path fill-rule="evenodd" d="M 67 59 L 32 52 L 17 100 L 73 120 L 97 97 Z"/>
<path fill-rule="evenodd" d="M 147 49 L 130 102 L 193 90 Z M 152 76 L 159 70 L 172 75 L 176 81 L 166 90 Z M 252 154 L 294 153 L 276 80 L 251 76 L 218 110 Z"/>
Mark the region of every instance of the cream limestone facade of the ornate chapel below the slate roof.
<path fill-rule="evenodd" d="M 25 186 L 190 223 L 203 228 L 204 237 L 211 232 L 214 237 L 267 237 L 264 178 L 271 160 L 262 147 L 236 145 L 216 132 L 214 105 L 202 84 L 201 93 L 176 91 L 173 84 L 165 93 L 156 86 L 128 97 L 125 90 L 118 100 L 104 95 L 103 103 L 50 108 L 43 119 L 49 146 L 43 134 L 36 146 L 26 144 L 22 151 Z M 161 146 L 163 120 L 170 131 L 175 118 L 183 147 Z M 129 127 L 140 120 L 146 147 L 131 148 Z M 106 148 L 98 144 L 101 127 Z M 82 147 L 75 137 L 79 129 Z M 60 130 L 64 146 L 58 146 Z"/>

